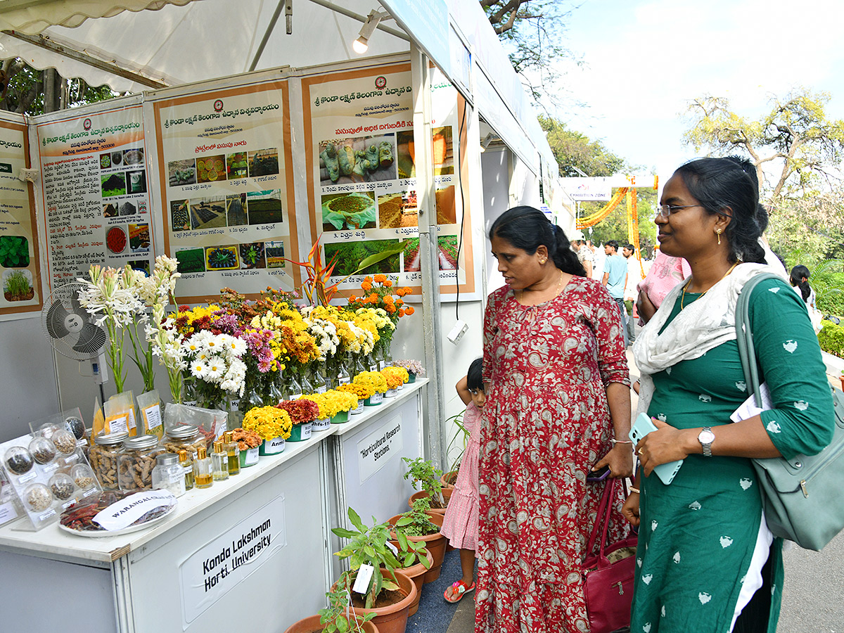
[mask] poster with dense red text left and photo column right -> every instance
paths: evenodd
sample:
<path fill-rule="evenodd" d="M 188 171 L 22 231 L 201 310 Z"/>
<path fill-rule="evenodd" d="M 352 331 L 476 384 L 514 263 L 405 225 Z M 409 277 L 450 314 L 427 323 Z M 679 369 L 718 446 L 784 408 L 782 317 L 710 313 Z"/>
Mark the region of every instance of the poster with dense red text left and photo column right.
<path fill-rule="evenodd" d="M 51 289 L 91 264 L 149 274 L 155 244 L 141 96 L 35 120 Z"/>

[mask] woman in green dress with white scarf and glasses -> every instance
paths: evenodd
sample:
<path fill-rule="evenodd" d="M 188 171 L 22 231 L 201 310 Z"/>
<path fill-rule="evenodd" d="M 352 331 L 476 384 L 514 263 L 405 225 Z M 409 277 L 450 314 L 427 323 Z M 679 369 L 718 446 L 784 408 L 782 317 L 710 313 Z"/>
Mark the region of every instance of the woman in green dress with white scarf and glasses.
<path fill-rule="evenodd" d="M 767 529 L 751 457 L 815 454 L 832 436 L 830 385 L 803 302 L 787 281 L 753 291 L 749 326 L 772 407 L 738 422 L 749 396 L 738 357 L 735 305 L 766 272 L 755 169 L 736 158 L 683 165 L 657 214 L 660 247 L 689 262 L 636 338 L 639 410 L 657 430 L 640 459 L 624 513 L 639 526 L 632 633 L 775 631 L 782 539 Z M 670 485 L 655 466 L 682 459 Z"/>

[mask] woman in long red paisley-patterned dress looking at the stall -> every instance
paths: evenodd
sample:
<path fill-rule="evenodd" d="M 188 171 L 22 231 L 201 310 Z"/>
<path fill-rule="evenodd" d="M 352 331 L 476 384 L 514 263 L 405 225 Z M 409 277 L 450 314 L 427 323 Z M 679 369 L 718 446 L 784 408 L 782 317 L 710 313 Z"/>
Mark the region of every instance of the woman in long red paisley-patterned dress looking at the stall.
<path fill-rule="evenodd" d="M 506 211 L 490 241 L 507 285 L 484 315 L 475 630 L 583 633 L 581 563 L 603 493 L 587 474 L 633 471 L 619 310 L 537 209 Z M 620 515 L 610 526 L 627 529 Z"/>

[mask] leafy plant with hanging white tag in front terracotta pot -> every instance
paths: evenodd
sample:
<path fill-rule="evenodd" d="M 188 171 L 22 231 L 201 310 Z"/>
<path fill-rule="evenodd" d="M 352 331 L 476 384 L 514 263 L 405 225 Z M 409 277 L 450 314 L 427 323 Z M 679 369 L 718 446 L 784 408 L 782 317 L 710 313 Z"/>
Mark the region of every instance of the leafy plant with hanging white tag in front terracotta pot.
<path fill-rule="evenodd" d="M 349 508 L 348 515 L 353 530 L 344 527 L 332 529 L 338 537 L 349 539 L 345 547 L 335 553 L 341 560 L 349 560 L 349 571 L 340 575 L 333 591 L 349 592 L 355 614 L 375 613 L 372 621 L 381 633 L 403 633 L 408 609 L 416 598 L 416 586 L 397 569 L 399 561 L 387 545 L 389 526 L 377 523 L 375 517 L 372 517 L 373 525 L 366 526 L 352 508 Z M 371 579 L 364 592 L 353 592 L 354 582 L 363 565 L 371 565 Z"/>

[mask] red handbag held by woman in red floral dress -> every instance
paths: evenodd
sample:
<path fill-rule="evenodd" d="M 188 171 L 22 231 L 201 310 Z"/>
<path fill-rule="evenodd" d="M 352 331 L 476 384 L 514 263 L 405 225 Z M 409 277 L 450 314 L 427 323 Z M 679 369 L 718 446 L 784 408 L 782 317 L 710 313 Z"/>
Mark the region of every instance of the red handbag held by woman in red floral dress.
<path fill-rule="evenodd" d="M 618 479 L 609 479 L 598 505 L 595 526 L 583 562 L 583 592 L 591 633 L 612 633 L 630 626 L 630 604 L 633 602 L 633 575 L 636 573 L 636 535 L 607 544 L 609 517 L 613 511 Z M 598 554 L 592 555 L 595 542 L 601 538 Z"/>

